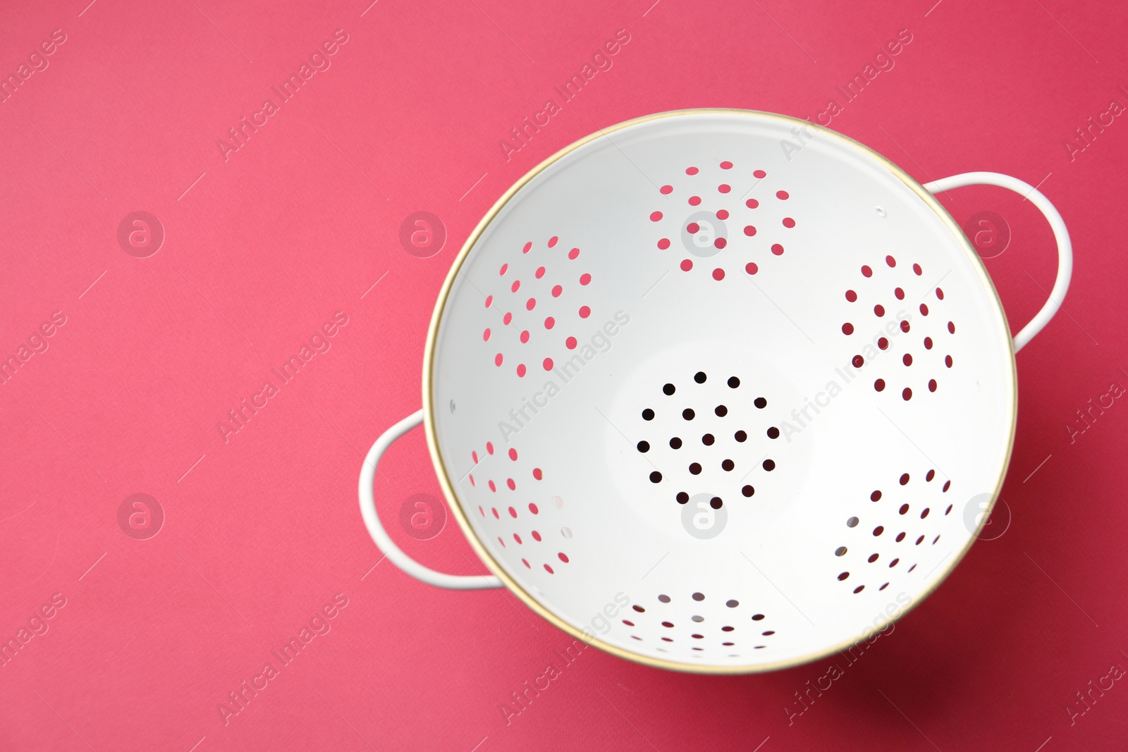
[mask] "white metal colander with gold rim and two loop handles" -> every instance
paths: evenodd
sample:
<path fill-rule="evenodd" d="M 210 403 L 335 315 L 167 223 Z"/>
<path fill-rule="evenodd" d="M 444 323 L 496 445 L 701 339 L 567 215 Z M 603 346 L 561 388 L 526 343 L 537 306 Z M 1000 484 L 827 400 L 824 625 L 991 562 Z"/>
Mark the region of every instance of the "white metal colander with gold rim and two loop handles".
<path fill-rule="evenodd" d="M 1014 338 L 932 196 L 987 184 L 1049 220 L 1058 276 Z M 843 649 L 918 603 L 1010 461 L 1014 351 L 1054 316 L 1069 237 L 1022 180 L 920 186 L 804 121 L 654 115 L 538 166 L 467 240 L 431 320 L 423 409 L 360 476 L 372 539 L 440 587 L 508 586 L 557 627 L 696 672 Z M 385 532 L 372 480 L 421 422 L 494 576 Z M 987 506 L 989 508 L 989 505 Z M 966 520 L 971 522 L 966 522 Z"/>

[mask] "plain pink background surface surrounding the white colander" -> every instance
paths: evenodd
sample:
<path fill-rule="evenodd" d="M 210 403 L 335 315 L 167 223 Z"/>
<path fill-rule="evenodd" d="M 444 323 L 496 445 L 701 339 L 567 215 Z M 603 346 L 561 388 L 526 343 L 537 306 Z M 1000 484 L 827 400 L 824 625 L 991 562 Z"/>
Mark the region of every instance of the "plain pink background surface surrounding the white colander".
<path fill-rule="evenodd" d="M 1087 710 L 1076 692 L 1128 667 L 1128 406 L 1072 441 L 1066 426 L 1128 387 L 1128 122 L 1083 151 L 1065 143 L 1128 104 L 1128 8 L 87 2 L 0 10 L 5 76 L 65 34 L 0 104 L 0 356 L 65 317 L 0 384 L 0 642 L 28 636 L 56 593 L 65 602 L 0 665 L 0 747 L 1123 749 L 1125 682 Z M 347 42 L 332 67 L 224 159 L 217 141 L 277 104 L 271 87 L 335 29 Z M 631 41 L 614 67 L 506 160 L 509 129 L 618 29 Z M 355 499 L 360 452 L 420 406 L 452 258 L 505 188 L 567 143 L 676 108 L 816 117 L 900 29 L 913 41 L 896 67 L 831 127 L 920 180 L 986 169 L 1040 184 L 1074 240 L 1065 311 L 1017 357 L 1010 528 L 856 664 L 711 678 L 591 648 L 506 718 L 511 692 L 571 639 L 508 591 L 373 569 Z M 1054 281 L 1047 224 L 1001 189 L 944 202 L 961 223 L 990 210 L 1010 224 L 987 266 L 1016 330 Z M 164 227 L 148 258 L 117 241 L 134 211 Z M 447 228 L 430 258 L 400 247 L 415 211 Z M 347 325 L 332 348 L 224 443 L 227 412 L 277 383 L 271 368 L 336 311 Z M 421 432 L 380 469 L 381 512 L 406 550 L 481 572 L 452 519 L 430 540 L 397 523 L 411 495 L 440 494 Z M 135 493 L 165 515 L 148 540 L 118 524 Z M 224 718 L 228 692 L 280 666 L 271 651 L 338 593 L 331 631 Z M 799 714 L 794 693 L 830 663 L 844 675 Z"/>

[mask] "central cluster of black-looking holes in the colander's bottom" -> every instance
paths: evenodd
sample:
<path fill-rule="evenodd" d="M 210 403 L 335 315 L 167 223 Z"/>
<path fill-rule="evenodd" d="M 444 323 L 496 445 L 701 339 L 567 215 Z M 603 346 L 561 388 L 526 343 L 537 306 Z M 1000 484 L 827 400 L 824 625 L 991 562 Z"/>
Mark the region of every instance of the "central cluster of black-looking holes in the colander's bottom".
<path fill-rule="evenodd" d="M 704 490 L 719 510 L 754 496 L 759 474 L 776 469 L 772 443 L 779 428 L 760 417 L 767 398 L 740 377 L 697 371 L 655 388 L 649 405 L 638 415 L 635 449 L 659 498 L 687 504 Z"/>

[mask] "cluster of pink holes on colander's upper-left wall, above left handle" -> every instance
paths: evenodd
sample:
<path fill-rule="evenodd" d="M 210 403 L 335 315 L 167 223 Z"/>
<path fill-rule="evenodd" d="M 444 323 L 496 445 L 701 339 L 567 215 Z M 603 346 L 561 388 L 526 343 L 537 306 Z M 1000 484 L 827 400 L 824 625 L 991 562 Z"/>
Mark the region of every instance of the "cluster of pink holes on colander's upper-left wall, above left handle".
<path fill-rule="evenodd" d="M 591 274 L 580 249 L 567 248 L 557 236 L 517 250 L 497 269 L 497 283 L 484 291 L 493 321 L 482 342 L 497 369 L 525 378 L 529 369 L 552 371 L 579 345 L 579 324 L 591 316 L 584 294 Z"/>

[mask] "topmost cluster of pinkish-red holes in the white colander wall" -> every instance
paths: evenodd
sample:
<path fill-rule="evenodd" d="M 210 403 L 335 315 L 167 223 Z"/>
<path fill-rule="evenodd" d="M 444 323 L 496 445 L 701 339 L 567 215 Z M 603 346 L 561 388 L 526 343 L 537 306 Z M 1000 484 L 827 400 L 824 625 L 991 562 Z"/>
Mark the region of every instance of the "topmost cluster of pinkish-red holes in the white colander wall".
<path fill-rule="evenodd" d="M 659 231 L 655 245 L 680 256 L 682 272 L 693 272 L 696 264 L 717 282 L 737 273 L 756 274 L 773 256 L 782 256 L 787 231 L 795 227 L 791 194 L 751 165 L 690 165 L 659 193 L 650 213 Z"/>

